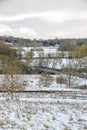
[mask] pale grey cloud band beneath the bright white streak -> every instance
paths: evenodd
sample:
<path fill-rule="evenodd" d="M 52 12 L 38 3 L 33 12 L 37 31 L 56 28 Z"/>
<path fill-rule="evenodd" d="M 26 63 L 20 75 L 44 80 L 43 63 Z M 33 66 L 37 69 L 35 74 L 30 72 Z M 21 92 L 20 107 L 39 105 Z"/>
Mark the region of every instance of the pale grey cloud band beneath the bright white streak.
<path fill-rule="evenodd" d="M 87 32 L 87 22 L 79 19 L 51 24 L 41 18 L 29 18 L 19 22 L 2 22 L 2 24 L 6 24 L 13 31 L 22 27 L 31 28 L 36 32 L 37 38 L 86 37 Z"/>

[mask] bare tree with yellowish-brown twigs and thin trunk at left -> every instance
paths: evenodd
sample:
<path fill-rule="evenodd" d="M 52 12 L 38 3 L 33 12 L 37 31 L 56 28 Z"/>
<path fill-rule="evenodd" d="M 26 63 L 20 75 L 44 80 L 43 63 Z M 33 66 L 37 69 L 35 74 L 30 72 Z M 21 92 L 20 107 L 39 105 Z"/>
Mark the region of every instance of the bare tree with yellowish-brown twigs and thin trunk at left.
<path fill-rule="evenodd" d="M 14 98 L 14 92 L 17 90 L 23 90 L 22 85 L 22 68 L 17 58 L 8 57 L 3 61 L 3 89 L 7 91 L 11 99 Z"/>

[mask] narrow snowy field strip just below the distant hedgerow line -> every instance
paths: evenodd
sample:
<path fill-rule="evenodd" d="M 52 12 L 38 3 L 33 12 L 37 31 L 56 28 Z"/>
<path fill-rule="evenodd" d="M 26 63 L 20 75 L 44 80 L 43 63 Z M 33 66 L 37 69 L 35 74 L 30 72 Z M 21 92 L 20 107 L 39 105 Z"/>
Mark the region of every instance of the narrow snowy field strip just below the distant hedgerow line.
<path fill-rule="evenodd" d="M 38 55 L 36 55 L 38 57 Z M 43 57 L 43 56 L 42 56 Z M 54 56 L 55 57 L 55 56 Z M 87 63 L 84 63 L 81 59 L 68 59 L 68 58 L 58 58 L 58 59 L 27 59 L 25 60 L 29 66 L 45 66 L 54 69 L 64 69 L 66 67 L 73 68 L 84 68 L 87 66 Z"/>

